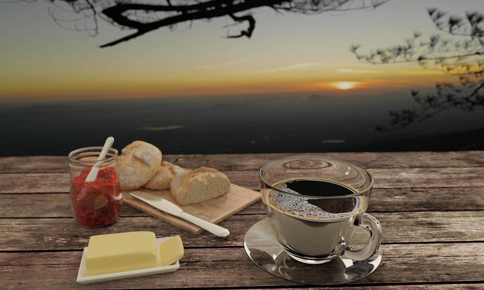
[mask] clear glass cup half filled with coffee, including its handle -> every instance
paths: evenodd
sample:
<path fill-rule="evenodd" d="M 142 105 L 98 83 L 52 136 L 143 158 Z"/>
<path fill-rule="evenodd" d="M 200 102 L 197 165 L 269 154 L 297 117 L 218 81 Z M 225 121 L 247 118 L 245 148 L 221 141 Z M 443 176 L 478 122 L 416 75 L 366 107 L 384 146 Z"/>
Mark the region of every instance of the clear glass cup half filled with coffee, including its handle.
<path fill-rule="evenodd" d="M 317 156 L 274 160 L 259 172 L 262 202 L 272 231 L 289 256 L 309 264 L 339 256 L 355 261 L 371 258 L 381 243 L 381 226 L 365 213 L 373 176 L 346 161 Z M 356 249 L 357 227 L 370 233 Z"/>

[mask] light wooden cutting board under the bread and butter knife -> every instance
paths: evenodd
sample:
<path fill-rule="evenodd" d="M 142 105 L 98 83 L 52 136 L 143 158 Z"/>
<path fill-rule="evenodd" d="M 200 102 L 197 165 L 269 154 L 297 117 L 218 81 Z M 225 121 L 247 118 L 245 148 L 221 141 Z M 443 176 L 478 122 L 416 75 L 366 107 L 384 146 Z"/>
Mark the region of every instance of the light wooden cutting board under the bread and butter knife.
<path fill-rule="evenodd" d="M 127 204 L 132 206 L 142 212 L 145 212 L 153 217 L 159 218 L 163 221 L 166 221 L 170 225 L 174 225 L 182 230 L 199 234 L 200 232 L 205 231 L 204 229 L 200 228 L 199 226 L 194 225 L 193 223 L 186 221 L 180 217 L 175 217 L 166 212 L 163 212 L 148 203 L 144 203 L 130 195 L 131 191 L 145 191 L 151 194 L 155 194 L 158 196 L 163 197 L 164 199 L 175 203 L 175 200 L 171 197 L 170 190 L 152 190 L 148 188 L 139 188 L 136 190 L 124 190 L 123 191 L 123 204 Z M 222 220 L 226 219 L 238 213 L 245 207 L 251 205 L 252 203 L 257 202 L 260 199 L 260 193 L 248 188 L 244 188 L 235 184 L 230 185 L 230 191 L 227 194 L 214 198 L 210 201 L 206 201 L 203 203 L 195 203 L 190 205 L 179 205 L 181 209 L 191 215 L 196 217 L 203 218 L 207 221 L 212 223 L 219 223 Z M 228 229 L 230 231 L 230 229 Z"/>

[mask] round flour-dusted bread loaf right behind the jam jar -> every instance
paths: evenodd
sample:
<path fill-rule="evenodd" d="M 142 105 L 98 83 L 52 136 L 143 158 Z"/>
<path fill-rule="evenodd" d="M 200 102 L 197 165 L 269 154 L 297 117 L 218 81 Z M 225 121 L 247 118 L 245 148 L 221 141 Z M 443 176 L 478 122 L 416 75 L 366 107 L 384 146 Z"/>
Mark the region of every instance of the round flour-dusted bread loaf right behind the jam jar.
<path fill-rule="evenodd" d="M 122 189 L 136 189 L 147 183 L 161 163 L 161 151 L 143 141 L 135 141 L 121 150 L 118 158 Z"/>

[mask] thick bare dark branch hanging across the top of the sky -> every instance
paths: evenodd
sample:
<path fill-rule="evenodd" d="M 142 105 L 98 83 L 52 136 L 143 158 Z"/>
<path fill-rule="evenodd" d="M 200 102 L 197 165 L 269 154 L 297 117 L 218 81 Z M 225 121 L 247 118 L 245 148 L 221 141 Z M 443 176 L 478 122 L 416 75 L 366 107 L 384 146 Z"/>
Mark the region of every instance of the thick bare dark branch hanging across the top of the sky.
<path fill-rule="evenodd" d="M 10 0 L 6 0 L 10 1 Z M 61 19 L 49 10 L 49 14 L 63 28 L 85 31 L 91 36 L 98 34 L 98 21 L 104 20 L 121 29 L 136 29 L 135 33 L 101 45 L 107 47 L 131 40 L 162 27 L 173 29 L 182 22 L 228 16 L 235 24 L 246 22 L 246 29 L 227 38 L 250 38 L 256 27 L 256 19 L 244 13 L 259 7 L 271 7 L 277 12 L 319 14 L 324 12 L 353 11 L 376 8 L 390 0 L 49 0 L 53 4 L 67 4 L 80 16 Z M 57 6 L 61 10 L 64 8 Z M 66 23 L 74 23 L 67 27 Z M 78 23 L 82 23 L 79 26 Z M 231 26 L 231 25 L 229 25 Z M 227 26 L 228 27 L 228 26 Z"/>

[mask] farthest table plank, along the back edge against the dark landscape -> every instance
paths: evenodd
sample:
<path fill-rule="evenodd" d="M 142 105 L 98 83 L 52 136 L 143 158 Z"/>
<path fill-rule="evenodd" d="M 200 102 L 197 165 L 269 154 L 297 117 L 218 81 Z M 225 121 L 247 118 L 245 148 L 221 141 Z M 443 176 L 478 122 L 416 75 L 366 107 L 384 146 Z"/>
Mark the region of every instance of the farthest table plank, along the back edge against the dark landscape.
<path fill-rule="evenodd" d="M 209 166 L 219 170 L 259 170 L 269 161 L 295 155 L 327 156 L 365 168 L 484 166 L 483 151 L 192 154 L 163 155 L 163 160 L 187 168 Z M 66 156 L 0 157 L 0 173 L 68 172 L 68 162 Z"/>

